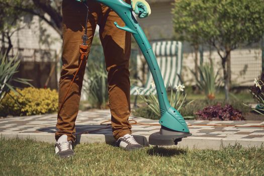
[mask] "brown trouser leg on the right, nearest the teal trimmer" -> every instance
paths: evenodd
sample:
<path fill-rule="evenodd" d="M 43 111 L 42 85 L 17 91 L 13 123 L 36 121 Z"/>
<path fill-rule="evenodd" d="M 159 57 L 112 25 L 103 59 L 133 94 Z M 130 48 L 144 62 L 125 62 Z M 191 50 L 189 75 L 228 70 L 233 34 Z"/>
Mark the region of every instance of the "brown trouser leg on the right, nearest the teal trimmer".
<path fill-rule="evenodd" d="M 130 2 L 127 2 L 130 3 Z M 108 71 L 109 103 L 115 139 L 131 134 L 129 57 L 131 34 L 115 27 L 114 22 L 124 26 L 122 19 L 106 6 L 102 6 L 103 17 L 98 21 L 100 38 L 104 48 Z"/>

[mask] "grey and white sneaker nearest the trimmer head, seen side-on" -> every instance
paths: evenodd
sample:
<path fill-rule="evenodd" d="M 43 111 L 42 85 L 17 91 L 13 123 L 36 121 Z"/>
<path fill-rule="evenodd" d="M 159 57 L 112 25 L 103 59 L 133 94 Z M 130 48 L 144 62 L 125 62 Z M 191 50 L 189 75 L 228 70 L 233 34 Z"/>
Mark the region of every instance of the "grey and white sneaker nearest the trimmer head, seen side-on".
<path fill-rule="evenodd" d="M 134 149 L 140 149 L 143 148 L 142 145 L 140 145 L 132 135 L 126 134 L 123 137 L 120 137 L 117 140 L 117 146 L 120 148 L 123 148 L 125 150 L 134 150 Z"/>

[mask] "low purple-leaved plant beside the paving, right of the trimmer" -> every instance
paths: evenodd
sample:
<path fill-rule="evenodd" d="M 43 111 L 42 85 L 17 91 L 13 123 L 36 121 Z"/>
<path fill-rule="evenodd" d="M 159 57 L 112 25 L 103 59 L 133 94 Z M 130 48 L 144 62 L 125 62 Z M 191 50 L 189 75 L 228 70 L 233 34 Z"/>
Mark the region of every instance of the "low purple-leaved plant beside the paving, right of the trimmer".
<path fill-rule="evenodd" d="M 195 114 L 199 120 L 244 120 L 241 111 L 234 109 L 231 105 L 207 106 Z"/>

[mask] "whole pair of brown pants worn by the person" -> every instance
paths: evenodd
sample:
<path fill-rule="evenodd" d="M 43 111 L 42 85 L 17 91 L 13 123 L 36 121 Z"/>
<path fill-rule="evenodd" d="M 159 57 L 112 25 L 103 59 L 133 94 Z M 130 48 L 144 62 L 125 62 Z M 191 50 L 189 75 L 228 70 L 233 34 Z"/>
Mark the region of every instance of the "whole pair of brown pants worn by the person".
<path fill-rule="evenodd" d="M 127 2 L 129 3 L 129 2 Z M 113 135 L 116 139 L 131 133 L 128 123 L 130 115 L 130 80 L 129 57 L 131 50 L 131 34 L 115 27 L 116 21 L 124 26 L 122 19 L 108 7 L 87 1 L 90 14 L 86 19 L 86 7 L 74 0 L 63 0 L 63 53 L 62 71 L 59 80 L 59 107 L 69 87 L 71 79 L 80 62 L 79 44 L 87 23 L 87 44 L 91 47 L 96 25 L 100 27 L 100 39 L 104 48 L 106 69 L 108 72 L 108 93 L 112 114 Z M 90 50 L 90 48 L 89 48 Z M 73 82 L 65 103 L 58 114 L 56 140 L 63 134 L 68 140 L 75 141 L 75 120 L 78 114 L 81 87 L 85 64 L 83 64 Z"/>

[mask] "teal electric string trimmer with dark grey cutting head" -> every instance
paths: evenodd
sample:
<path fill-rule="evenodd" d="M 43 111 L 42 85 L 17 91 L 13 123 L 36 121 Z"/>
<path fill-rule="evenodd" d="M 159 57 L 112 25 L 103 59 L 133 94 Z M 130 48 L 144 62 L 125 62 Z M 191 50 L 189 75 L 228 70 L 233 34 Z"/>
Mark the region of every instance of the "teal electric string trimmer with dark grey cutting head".
<path fill-rule="evenodd" d="M 161 118 L 159 120 L 161 128 L 159 132 L 149 136 L 149 144 L 177 145 L 182 138 L 191 136 L 191 133 L 183 116 L 176 109 L 171 107 L 168 102 L 166 89 L 156 57 L 143 30 L 132 14 L 131 5 L 125 3 L 123 0 L 96 1 L 111 8 L 125 22 L 125 26 L 119 26 L 116 22 L 114 24 L 117 28 L 132 33 L 153 76 L 161 112 Z M 143 12 L 143 10 L 141 10 L 141 12 Z"/>

